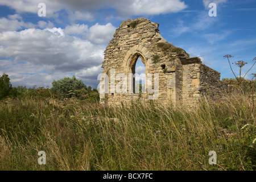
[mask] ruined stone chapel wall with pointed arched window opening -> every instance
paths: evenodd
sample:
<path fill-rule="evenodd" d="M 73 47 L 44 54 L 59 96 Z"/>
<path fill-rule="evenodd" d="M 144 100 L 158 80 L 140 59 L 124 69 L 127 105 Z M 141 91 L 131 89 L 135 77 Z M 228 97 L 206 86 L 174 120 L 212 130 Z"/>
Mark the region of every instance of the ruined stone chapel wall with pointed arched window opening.
<path fill-rule="evenodd" d="M 113 39 L 105 50 L 102 63 L 104 71 L 100 83 L 108 92 L 100 93 L 101 104 L 121 106 L 131 101 L 150 102 L 154 100 L 166 105 L 193 105 L 202 95 L 219 96 L 226 92 L 228 86 L 220 81 L 220 73 L 201 63 L 199 57 L 189 57 L 183 49 L 168 43 L 159 33 L 159 24 L 146 18 L 128 19 L 115 31 Z M 135 73 L 135 64 L 141 57 L 145 65 L 146 93 L 134 92 L 134 79 L 129 73 Z M 116 77 L 123 73 L 123 77 Z M 158 90 L 148 92 L 148 85 L 155 85 L 158 73 Z M 114 83 L 111 78 L 115 78 Z M 131 78 L 131 79 L 129 79 Z M 124 81 L 124 82 L 122 82 Z M 114 86 L 122 85 L 124 92 L 117 93 Z M 131 86 L 129 86 L 129 83 Z M 154 87 L 152 86 L 152 88 Z M 120 87 L 121 88 L 121 87 Z M 155 89 L 155 88 L 154 88 Z M 156 93 L 157 92 L 157 93 Z M 157 97 L 149 98 L 156 94 Z"/>

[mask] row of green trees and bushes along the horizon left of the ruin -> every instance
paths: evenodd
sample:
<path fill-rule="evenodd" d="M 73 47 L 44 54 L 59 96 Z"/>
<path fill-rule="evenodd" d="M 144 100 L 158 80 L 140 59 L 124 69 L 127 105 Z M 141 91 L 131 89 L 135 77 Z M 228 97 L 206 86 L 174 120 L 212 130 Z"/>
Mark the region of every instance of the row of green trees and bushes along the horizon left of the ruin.
<path fill-rule="evenodd" d="M 52 87 L 43 86 L 26 88 L 26 86 L 14 86 L 10 82 L 8 75 L 3 73 L 0 77 L 0 100 L 4 98 L 22 98 L 32 97 L 60 97 L 60 98 L 78 98 L 80 100 L 99 100 L 97 89 L 86 86 L 82 80 L 77 79 L 75 75 L 72 78 L 64 77 L 60 80 L 53 80 Z"/>

